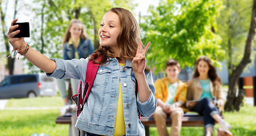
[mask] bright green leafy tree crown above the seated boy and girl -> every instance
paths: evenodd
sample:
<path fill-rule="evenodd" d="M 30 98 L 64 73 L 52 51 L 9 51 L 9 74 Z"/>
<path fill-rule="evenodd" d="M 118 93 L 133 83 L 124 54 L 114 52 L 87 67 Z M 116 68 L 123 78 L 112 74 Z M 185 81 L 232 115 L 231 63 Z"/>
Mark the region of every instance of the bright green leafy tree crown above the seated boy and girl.
<path fill-rule="evenodd" d="M 217 62 L 224 54 L 215 33 L 220 7 L 221 2 L 213 0 L 166 0 L 151 6 L 152 15 L 141 24 L 143 41 L 152 41 L 148 64 L 160 71 L 168 59 L 175 58 L 181 67 L 191 67 L 203 55 Z"/>

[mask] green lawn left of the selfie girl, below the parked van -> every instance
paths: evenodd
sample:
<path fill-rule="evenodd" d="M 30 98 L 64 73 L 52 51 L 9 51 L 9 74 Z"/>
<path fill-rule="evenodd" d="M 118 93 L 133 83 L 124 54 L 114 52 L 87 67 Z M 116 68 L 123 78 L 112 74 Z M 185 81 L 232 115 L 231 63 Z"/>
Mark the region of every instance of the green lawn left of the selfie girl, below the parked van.
<path fill-rule="evenodd" d="M 6 104 L 6 109 L 0 110 L 0 136 L 30 136 L 41 133 L 49 136 L 68 135 L 69 125 L 55 124 L 56 117 L 60 115 L 58 109 L 63 106 L 63 100 L 60 96 L 10 99 Z M 53 109 L 20 110 L 38 107 Z"/>

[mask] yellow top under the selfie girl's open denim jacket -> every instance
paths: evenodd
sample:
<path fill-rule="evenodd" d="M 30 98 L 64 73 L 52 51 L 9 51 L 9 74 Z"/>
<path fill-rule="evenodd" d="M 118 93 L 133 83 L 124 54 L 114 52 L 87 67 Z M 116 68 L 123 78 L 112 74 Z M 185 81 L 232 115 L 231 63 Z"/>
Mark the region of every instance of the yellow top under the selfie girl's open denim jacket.
<path fill-rule="evenodd" d="M 125 66 L 124 63 L 119 63 L 121 66 Z M 121 83 L 119 82 L 119 96 L 116 111 L 116 122 L 115 122 L 115 136 L 125 135 L 125 123 L 124 123 L 124 107 L 123 107 L 123 96 L 121 90 Z"/>

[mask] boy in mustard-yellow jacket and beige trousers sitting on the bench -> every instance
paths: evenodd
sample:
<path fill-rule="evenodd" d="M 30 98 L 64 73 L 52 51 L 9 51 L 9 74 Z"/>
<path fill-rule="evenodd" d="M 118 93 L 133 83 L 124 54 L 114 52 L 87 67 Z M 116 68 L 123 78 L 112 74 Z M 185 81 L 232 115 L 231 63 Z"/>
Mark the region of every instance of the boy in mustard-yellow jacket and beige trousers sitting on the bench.
<path fill-rule="evenodd" d="M 179 135 L 182 126 L 183 113 L 188 110 L 184 108 L 187 95 L 187 84 L 182 83 L 177 77 L 181 71 L 179 62 L 169 59 L 166 62 L 165 72 L 167 77 L 157 79 L 156 87 L 157 109 L 154 113 L 158 134 L 169 135 L 166 128 L 166 117 L 171 118 L 170 135 Z M 184 110 L 184 111 L 183 111 Z"/>

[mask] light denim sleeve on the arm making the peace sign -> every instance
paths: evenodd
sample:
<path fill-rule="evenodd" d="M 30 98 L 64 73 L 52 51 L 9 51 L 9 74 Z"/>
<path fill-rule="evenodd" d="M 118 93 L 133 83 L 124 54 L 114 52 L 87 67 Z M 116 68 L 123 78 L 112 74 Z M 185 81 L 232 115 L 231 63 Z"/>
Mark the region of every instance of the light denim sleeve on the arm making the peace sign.
<path fill-rule="evenodd" d="M 152 78 L 152 73 L 151 72 L 146 72 L 146 82 L 148 82 L 149 88 L 151 90 L 151 94 L 149 96 L 149 99 L 145 101 L 144 103 L 141 103 L 139 96 L 137 94 L 137 106 L 143 116 L 151 116 L 157 108 L 157 99 L 154 96 L 155 94 L 155 88 L 154 88 L 154 82 Z"/>

